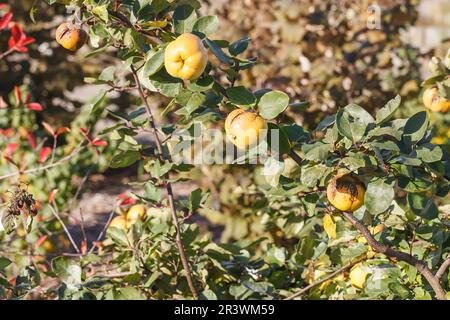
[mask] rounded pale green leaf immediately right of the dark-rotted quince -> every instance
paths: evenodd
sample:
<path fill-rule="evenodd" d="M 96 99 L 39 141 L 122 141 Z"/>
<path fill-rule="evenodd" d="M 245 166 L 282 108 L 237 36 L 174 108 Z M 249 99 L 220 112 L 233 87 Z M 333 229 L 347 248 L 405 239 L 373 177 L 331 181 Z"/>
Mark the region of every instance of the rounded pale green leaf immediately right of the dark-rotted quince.
<path fill-rule="evenodd" d="M 394 200 L 394 187 L 386 181 L 377 178 L 367 186 L 364 205 L 367 210 L 377 215 L 385 212 Z"/>

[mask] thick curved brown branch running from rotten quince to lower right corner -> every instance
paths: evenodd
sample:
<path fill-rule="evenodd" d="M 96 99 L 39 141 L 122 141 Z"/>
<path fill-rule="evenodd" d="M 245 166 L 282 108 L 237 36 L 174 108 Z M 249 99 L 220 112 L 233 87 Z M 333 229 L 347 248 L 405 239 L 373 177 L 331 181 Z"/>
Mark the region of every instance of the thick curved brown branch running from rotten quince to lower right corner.
<path fill-rule="evenodd" d="M 376 241 L 370 231 L 366 228 L 366 226 L 363 225 L 358 219 L 356 219 L 352 213 L 343 212 L 342 214 L 345 219 L 347 219 L 347 221 L 349 221 L 353 225 L 353 227 L 357 229 L 364 236 L 364 238 L 366 238 L 367 243 L 373 248 L 374 251 L 382 253 L 391 258 L 396 258 L 414 266 L 417 271 L 419 271 L 422 276 L 428 281 L 431 288 L 436 294 L 436 298 L 439 300 L 446 299 L 446 292 L 439 283 L 438 277 L 433 275 L 424 261 L 418 260 L 417 258 L 407 253 L 395 251 L 394 249 Z"/>

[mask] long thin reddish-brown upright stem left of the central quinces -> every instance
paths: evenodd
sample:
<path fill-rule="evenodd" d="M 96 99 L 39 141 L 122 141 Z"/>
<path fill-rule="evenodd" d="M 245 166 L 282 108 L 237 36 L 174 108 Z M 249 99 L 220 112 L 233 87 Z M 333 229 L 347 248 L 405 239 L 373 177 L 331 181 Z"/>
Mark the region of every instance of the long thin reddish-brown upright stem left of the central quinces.
<path fill-rule="evenodd" d="M 137 75 L 136 69 L 134 68 L 133 65 L 131 65 L 131 70 L 133 72 L 133 77 L 134 77 L 134 80 L 136 82 L 136 85 L 138 87 L 139 95 L 141 97 L 142 102 L 145 105 L 145 110 L 146 110 L 147 116 L 149 118 L 150 128 L 151 128 L 151 130 L 153 132 L 153 135 L 155 137 L 156 147 L 158 149 L 160 160 L 162 162 L 164 162 L 166 160 L 167 161 L 171 161 L 170 156 L 168 156 L 168 159 L 164 158 L 163 147 L 162 147 L 162 144 L 161 144 L 161 140 L 159 138 L 158 131 L 156 129 L 156 125 L 155 125 L 155 121 L 154 121 L 154 118 L 153 118 L 152 110 L 150 108 L 150 105 L 148 104 L 147 99 L 145 98 L 145 94 L 144 94 L 144 91 L 142 89 L 141 82 L 140 82 L 139 77 Z M 169 174 L 168 173 L 165 174 L 165 178 L 166 179 L 169 178 Z M 179 224 L 178 218 L 177 218 L 177 211 L 175 209 L 175 201 L 174 201 L 173 189 L 172 189 L 172 184 L 170 182 L 166 183 L 166 190 L 167 190 L 167 197 L 168 197 L 168 200 L 169 200 L 169 206 L 170 206 L 170 209 L 172 211 L 172 220 L 173 220 L 173 224 L 174 224 L 175 230 L 176 230 L 175 242 L 176 242 L 177 247 L 178 247 L 178 253 L 180 254 L 181 263 L 183 264 L 183 268 L 184 268 L 184 271 L 185 271 L 186 280 L 188 282 L 189 289 L 190 289 L 193 297 L 195 299 L 197 299 L 198 298 L 198 293 L 197 293 L 197 290 L 195 288 L 194 281 L 192 280 L 191 267 L 189 266 L 189 262 L 188 262 L 188 259 L 186 257 L 186 252 L 184 250 L 183 242 L 182 242 L 182 239 L 181 239 L 180 224 Z"/>

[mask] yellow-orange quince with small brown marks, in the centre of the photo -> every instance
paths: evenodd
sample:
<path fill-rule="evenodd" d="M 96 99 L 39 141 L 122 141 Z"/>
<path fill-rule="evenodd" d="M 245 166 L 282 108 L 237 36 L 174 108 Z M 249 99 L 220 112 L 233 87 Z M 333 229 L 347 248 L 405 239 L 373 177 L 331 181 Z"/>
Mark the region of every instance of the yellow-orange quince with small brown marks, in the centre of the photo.
<path fill-rule="evenodd" d="M 267 122 L 257 113 L 236 109 L 225 120 L 225 132 L 239 149 L 252 147 L 267 135 Z"/>

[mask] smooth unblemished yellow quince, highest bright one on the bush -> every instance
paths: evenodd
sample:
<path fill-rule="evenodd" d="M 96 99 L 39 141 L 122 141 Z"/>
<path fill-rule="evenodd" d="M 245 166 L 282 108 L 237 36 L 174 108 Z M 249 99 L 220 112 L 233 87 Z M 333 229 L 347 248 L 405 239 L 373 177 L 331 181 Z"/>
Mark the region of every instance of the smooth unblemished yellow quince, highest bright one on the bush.
<path fill-rule="evenodd" d="M 205 71 L 208 54 L 202 40 L 184 33 L 169 43 L 164 53 L 167 72 L 175 78 L 195 80 Z"/>

